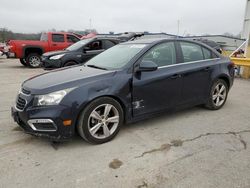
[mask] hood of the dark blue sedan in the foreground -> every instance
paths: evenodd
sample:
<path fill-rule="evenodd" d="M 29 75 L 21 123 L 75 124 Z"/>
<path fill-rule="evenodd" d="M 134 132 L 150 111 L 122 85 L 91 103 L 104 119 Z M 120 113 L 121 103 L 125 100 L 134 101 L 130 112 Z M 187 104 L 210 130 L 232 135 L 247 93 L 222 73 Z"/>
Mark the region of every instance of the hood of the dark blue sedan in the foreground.
<path fill-rule="evenodd" d="M 115 72 L 86 66 L 67 67 L 32 77 L 24 81 L 22 87 L 31 94 L 46 94 L 101 81 L 114 76 Z"/>

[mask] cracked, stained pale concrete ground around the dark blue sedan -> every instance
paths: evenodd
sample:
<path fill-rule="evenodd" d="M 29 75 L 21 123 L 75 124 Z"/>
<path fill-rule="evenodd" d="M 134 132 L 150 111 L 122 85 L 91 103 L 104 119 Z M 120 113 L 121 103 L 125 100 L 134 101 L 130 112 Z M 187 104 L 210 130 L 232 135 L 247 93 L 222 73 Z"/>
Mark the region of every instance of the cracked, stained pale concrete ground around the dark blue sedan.
<path fill-rule="evenodd" d="M 10 117 L 22 81 L 42 72 L 0 59 L 0 187 L 250 187 L 250 81 L 236 79 L 219 111 L 126 125 L 102 145 L 52 144 Z"/>

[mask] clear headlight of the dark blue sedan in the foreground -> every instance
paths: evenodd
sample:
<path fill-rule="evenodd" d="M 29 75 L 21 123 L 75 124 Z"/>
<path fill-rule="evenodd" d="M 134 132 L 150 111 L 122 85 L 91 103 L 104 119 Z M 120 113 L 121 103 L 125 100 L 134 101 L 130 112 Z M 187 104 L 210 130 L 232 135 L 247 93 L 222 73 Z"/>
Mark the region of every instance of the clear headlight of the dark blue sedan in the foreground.
<path fill-rule="evenodd" d="M 34 106 L 57 105 L 73 89 L 60 90 L 46 95 L 37 95 L 34 99 Z"/>

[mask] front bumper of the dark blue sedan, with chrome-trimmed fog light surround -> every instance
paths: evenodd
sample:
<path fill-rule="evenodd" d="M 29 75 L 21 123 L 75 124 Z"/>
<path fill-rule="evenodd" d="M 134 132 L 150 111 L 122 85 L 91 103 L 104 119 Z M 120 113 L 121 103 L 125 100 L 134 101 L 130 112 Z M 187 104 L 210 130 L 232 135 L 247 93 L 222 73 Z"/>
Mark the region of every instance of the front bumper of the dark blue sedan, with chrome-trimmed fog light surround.
<path fill-rule="evenodd" d="M 72 121 L 70 126 L 64 126 L 64 120 L 71 120 L 72 114 L 69 107 L 51 106 L 33 108 L 29 107 L 19 111 L 11 108 L 11 115 L 15 122 L 28 134 L 46 137 L 51 140 L 66 140 L 75 134 Z"/>

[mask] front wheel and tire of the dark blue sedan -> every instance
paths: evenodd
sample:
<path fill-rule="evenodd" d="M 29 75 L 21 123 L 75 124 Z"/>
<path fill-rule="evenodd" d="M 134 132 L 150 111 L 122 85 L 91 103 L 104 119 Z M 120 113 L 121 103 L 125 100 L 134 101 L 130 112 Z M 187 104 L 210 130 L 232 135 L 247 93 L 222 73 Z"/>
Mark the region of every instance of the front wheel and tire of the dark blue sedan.
<path fill-rule="evenodd" d="M 77 130 L 80 136 L 92 144 L 112 140 L 123 124 L 121 105 L 110 97 L 91 102 L 80 114 Z"/>

